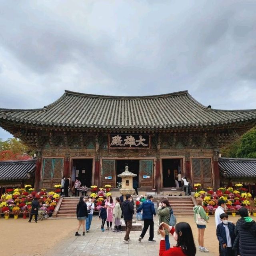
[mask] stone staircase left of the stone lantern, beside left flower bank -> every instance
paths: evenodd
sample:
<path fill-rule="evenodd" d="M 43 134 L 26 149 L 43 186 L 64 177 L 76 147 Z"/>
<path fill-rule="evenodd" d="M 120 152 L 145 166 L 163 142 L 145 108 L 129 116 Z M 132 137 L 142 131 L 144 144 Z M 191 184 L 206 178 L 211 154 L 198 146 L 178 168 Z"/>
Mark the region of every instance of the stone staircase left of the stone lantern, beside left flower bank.
<path fill-rule="evenodd" d="M 76 206 L 78 204 L 79 197 L 63 197 L 62 202 L 56 213 L 57 218 L 76 218 Z"/>

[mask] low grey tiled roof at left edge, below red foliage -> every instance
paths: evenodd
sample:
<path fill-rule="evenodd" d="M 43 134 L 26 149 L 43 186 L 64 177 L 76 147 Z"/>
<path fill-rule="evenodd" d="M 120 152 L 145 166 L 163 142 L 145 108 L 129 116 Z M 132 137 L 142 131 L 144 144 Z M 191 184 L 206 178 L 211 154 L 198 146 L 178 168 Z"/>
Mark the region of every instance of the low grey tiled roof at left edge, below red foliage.
<path fill-rule="evenodd" d="M 36 168 L 36 159 L 0 161 L 0 181 L 25 180 Z"/>

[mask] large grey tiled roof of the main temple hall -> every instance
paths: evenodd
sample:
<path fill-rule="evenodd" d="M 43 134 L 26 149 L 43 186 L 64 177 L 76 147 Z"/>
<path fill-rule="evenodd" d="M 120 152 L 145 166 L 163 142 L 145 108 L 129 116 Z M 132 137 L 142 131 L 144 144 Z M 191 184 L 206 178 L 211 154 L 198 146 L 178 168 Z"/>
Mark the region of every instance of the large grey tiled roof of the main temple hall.
<path fill-rule="evenodd" d="M 65 128 L 194 128 L 256 120 L 254 110 L 216 110 L 198 103 L 188 91 L 156 96 L 99 96 L 65 91 L 42 109 L 0 109 L 3 121 Z"/>

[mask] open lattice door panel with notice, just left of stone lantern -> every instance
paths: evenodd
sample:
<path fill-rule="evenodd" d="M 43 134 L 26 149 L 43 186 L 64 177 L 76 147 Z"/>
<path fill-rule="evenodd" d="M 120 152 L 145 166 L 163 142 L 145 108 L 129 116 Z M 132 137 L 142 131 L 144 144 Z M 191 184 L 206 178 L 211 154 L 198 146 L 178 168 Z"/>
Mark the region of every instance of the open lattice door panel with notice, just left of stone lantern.
<path fill-rule="evenodd" d="M 102 186 L 109 184 L 113 188 L 116 187 L 116 174 L 115 174 L 116 160 L 103 159 L 102 160 Z"/>

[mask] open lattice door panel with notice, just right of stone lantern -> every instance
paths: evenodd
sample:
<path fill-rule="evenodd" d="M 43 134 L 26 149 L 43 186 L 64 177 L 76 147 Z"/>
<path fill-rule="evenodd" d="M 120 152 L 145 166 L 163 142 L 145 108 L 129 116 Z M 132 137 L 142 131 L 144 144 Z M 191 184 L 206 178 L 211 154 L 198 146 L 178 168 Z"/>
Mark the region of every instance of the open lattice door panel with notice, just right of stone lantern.
<path fill-rule="evenodd" d="M 153 160 L 140 160 L 140 187 L 154 187 Z"/>

